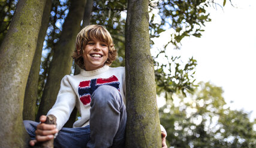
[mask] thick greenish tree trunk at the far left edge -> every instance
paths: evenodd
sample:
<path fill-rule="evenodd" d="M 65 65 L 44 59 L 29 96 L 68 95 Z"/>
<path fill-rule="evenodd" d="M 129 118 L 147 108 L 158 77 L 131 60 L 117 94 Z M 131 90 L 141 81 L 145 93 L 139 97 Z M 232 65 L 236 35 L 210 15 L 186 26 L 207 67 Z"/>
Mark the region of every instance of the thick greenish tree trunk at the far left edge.
<path fill-rule="evenodd" d="M 26 147 L 23 99 L 46 0 L 20 0 L 0 47 L 0 147 Z"/>

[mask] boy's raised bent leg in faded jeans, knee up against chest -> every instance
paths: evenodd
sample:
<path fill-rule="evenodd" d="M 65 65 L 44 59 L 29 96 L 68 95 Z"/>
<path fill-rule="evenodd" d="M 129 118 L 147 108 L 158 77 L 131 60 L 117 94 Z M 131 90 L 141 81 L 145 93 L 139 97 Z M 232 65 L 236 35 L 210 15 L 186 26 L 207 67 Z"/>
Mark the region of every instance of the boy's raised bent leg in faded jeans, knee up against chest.
<path fill-rule="evenodd" d="M 87 147 L 124 147 L 127 113 L 120 92 L 109 85 L 98 87 L 92 94 L 90 111 Z"/>

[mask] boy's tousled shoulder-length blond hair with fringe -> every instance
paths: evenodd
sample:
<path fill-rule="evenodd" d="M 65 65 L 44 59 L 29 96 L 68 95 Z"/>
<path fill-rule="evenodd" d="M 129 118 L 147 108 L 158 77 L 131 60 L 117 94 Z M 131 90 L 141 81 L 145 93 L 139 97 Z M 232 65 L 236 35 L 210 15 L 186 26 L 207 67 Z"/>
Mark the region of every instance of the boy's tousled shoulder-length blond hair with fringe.
<path fill-rule="evenodd" d="M 72 55 L 75 63 L 80 68 L 85 69 L 85 63 L 83 61 L 83 50 L 85 49 L 88 42 L 92 39 L 99 39 L 100 41 L 107 44 L 107 47 L 109 48 L 109 57 L 107 58 L 105 64 L 110 66 L 116 59 L 117 52 L 115 50 L 113 39 L 109 31 L 99 24 L 88 25 L 78 33 L 76 39 L 76 50 Z"/>

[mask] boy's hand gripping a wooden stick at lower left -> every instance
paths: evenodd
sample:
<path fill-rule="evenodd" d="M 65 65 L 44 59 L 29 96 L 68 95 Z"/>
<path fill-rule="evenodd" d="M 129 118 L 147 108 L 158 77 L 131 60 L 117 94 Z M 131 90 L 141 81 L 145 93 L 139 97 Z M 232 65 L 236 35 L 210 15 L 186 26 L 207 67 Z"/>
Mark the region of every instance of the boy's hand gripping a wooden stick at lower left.
<path fill-rule="evenodd" d="M 54 134 L 58 132 L 56 125 L 44 124 L 46 122 L 46 116 L 42 115 L 40 117 L 40 124 L 37 125 L 37 130 L 35 130 L 35 140 L 31 140 L 29 144 L 34 146 L 37 142 L 47 141 L 54 138 Z"/>

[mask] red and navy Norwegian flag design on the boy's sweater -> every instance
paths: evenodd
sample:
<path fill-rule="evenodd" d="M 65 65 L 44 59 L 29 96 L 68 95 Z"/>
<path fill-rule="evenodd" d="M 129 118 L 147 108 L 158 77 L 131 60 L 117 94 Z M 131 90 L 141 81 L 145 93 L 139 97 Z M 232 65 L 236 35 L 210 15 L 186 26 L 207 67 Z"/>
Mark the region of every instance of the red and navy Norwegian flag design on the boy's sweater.
<path fill-rule="evenodd" d="M 107 79 L 98 78 L 91 79 L 89 81 L 82 81 L 80 82 L 78 88 L 80 100 L 86 106 L 87 104 L 91 103 L 91 95 L 98 87 L 100 87 L 101 85 L 110 85 L 120 91 L 119 84 L 120 83 L 118 81 L 118 78 L 116 78 L 115 75 L 110 76 L 110 78 Z"/>

